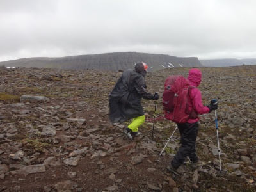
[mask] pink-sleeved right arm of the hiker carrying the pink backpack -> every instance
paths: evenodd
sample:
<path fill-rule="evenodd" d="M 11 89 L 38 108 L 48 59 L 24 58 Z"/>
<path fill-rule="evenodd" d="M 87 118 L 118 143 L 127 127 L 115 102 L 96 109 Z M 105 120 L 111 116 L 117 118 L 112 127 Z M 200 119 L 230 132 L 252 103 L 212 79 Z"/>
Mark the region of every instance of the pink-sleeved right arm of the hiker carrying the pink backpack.
<path fill-rule="evenodd" d="M 193 108 L 195 109 L 196 113 L 198 114 L 209 113 L 210 109 L 207 106 L 204 106 L 204 104 L 202 103 L 202 95 L 200 90 L 198 90 L 197 88 L 193 88 L 191 90 L 191 98 L 192 98 Z"/>

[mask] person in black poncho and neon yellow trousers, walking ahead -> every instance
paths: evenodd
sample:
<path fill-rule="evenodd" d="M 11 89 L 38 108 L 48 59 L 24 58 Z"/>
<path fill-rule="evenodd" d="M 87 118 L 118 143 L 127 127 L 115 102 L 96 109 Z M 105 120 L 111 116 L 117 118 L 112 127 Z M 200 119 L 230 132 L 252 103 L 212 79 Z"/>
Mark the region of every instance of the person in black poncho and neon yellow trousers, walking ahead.
<path fill-rule="evenodd" d="M 138 127 L 145 122 L 145 113 L 141 99 L 157 100 L 159 95 L 152 95 L 145 90 L 145 76 L 148 66 L 139 62 L 135 70 L 125 70 L 109 94 L 109 118 L 112 123 L 132 119 L 124 129 L 127 138 L 132 140 L 138 135 Z"/>

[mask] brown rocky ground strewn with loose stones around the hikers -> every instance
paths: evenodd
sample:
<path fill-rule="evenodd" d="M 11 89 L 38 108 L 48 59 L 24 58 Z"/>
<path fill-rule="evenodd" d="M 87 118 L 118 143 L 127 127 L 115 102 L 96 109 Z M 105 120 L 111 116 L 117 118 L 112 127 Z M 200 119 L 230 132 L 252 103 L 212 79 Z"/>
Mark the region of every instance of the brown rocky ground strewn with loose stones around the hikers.
<path fill-rule="evenodd" d="M 1 67 L 0 191 L 255 191 L 256 65 L 200 69 L 204 103 L 218 99 L 221 164 L 209 113 L 200 116 L 202 166 L 186 161 L 174 175 L 166 167 L 180 137 L 159 156 L 175 129 L 161 97 L 156 113 L 143 100 L 147 119 L 133 141 L 122 133 L 129 122 L 109 122 L 108 94 L 121 72 Z M 188 70 L 148 72 L 148 92 L 161 95 L 166 77 Z"/>

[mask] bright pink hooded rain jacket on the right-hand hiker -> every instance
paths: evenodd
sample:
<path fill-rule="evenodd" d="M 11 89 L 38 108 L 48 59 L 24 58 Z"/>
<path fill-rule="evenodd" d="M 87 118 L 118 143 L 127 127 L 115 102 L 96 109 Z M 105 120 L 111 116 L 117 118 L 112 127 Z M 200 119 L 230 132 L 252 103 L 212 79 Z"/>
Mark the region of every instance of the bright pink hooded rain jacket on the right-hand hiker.
<path fill-rule="evenodd" d="M 190 86 L 195 86 L 196 88 L 191 88 L 189 101 L 189 110 L 194 109 L 196 114 L 205 114 L 209 113 L 210 109 L 207 106 L 204 106 L 202 103 L 202 95 L 200 90 L 198 90 L 198 86 L 202 80 L 202 73 L 199 69 L 193 68 L 189 70 L 188 78 Z M 197 118 L 189 118 L 188 123 L 195 123 L 199 121 L 199 117 Z"/>

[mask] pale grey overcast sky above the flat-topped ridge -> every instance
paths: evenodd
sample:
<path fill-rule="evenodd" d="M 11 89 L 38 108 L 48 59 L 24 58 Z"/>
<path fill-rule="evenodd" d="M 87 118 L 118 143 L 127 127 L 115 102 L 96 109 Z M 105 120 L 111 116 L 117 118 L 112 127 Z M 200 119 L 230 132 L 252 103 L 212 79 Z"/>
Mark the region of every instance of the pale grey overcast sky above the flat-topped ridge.
<path fill-rule="evenodd" d="M 0 0 L 0 61 L 128 51 L 256 58 L 256 1 Z"/>

